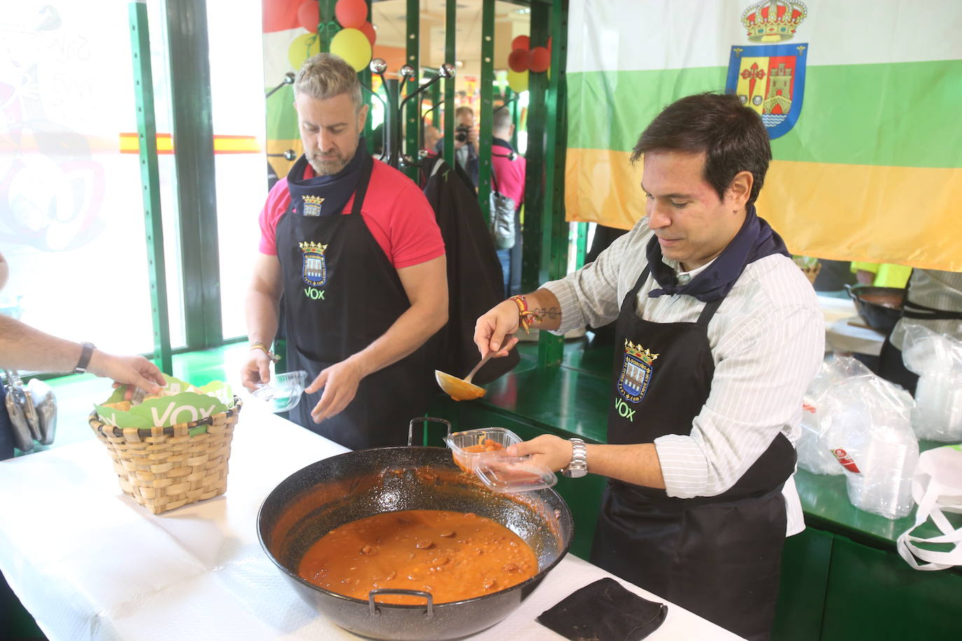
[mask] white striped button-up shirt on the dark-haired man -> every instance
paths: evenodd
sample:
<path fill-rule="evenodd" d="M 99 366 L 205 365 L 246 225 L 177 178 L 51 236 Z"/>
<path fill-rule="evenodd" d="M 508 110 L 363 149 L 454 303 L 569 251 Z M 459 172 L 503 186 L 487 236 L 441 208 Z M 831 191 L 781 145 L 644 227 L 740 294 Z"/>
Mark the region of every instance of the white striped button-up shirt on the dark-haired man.
<path fill-rule="evenodd" d="M 561 304 L 555 333 L 599 327 L 618 317 L 621 301 L 646 267 L 650 237 L 643 218 L 595 262 L 544 284 Z M 677 262 L 664 261 L 679 271 Z M 694 275 L 679 273 L 679 281 Z M 657 286 L 649 275 L 635 300 L 639 316 L 655 323 L 696 322 L 704 303 L 684 294 L 648 298 Z M 715 374 L 691 433 L 654 440 L 669 496 L 722 494 L 779 432 L 795 443 L 802 397 L 822 365 L 824 338 L 818 298 L 791 259 L 773 255 L 746 266 L 708 325 Z M 794 477 L 783 493 L 791 535 L 804 530 Z"/>

